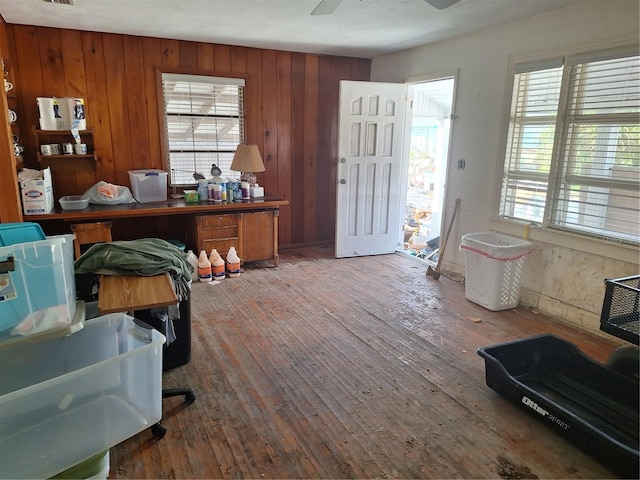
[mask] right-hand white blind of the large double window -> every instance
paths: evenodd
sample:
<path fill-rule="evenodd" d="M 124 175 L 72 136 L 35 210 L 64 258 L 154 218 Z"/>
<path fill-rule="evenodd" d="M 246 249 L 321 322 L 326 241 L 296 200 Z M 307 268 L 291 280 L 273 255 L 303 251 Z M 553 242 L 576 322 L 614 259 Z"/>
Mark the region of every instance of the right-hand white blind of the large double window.
<path fill-rule="evenodd" d="M 595 235 L 640 236 L 639 58 L 570 65 L 551 223 Z"/>

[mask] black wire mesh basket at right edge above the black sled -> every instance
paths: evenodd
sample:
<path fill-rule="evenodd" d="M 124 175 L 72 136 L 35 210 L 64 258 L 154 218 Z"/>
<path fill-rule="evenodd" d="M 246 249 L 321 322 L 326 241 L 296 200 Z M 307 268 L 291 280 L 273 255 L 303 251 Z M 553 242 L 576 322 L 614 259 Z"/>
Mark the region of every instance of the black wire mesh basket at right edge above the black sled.
<path fill-rule="evenodd" d="M 606 279 L 600 330 L 640 345 L 640 275 Z"/>

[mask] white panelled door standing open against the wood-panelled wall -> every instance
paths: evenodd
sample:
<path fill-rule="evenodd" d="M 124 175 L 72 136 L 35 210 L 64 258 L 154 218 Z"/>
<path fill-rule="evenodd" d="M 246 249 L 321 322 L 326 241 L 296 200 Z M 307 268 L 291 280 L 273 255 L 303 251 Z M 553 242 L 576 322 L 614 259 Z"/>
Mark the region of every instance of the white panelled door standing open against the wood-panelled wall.
<path fill-rule="evenodd" d="M 340 82 L 336 257 L 396 250 L 406 85 Z"/>

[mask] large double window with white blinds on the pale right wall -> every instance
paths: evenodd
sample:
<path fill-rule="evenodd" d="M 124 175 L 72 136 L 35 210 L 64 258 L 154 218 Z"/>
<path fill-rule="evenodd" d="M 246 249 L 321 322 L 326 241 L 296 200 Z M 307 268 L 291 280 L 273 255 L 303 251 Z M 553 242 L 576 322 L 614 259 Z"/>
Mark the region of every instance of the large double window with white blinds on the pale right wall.
<path fill-rule="evenodd" d="M 638 243 L 637 51 L 516 67 L 510 114 L 500 215 Z"/>

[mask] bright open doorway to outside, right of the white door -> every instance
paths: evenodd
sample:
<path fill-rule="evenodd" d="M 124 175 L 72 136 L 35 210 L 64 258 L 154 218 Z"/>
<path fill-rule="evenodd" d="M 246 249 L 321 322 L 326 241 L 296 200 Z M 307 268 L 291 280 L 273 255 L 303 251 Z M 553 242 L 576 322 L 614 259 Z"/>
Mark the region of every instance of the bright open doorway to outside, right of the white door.
<path fill-rule="evenodd" d="M 409 85 L 411 101 L 404 241 L 401 252 L 438 260 L 455 78 Z"/>

